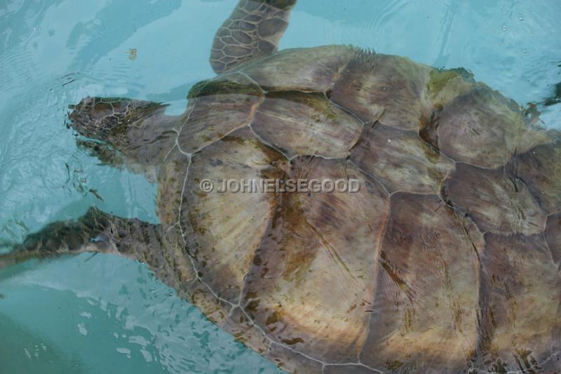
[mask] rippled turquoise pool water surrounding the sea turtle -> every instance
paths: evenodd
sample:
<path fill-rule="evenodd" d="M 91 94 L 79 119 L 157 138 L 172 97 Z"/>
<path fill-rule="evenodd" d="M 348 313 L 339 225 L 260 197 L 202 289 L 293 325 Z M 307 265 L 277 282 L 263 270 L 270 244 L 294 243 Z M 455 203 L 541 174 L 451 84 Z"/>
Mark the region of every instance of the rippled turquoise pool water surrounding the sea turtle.
<path fill-rule="evenodd" d="M 3 1 L 0 251 L 92 205 L 157 222 L 156 186 L 78 149 L 67 105 L 119 95 L 167 102 L 179 114 L 189 88 L 213 75 L 212 36 L 235 4 Z M 525 104 L 550 97 L 561 81 L 560 19 L 555 1 L 301 0 L 280 46 L 356 44 L 465 67 Z M 545 126 L 561 128 L 560 107 L 543 109 Z M 109 255 L 1 270 L 0 334 L 0 373 L 278 371 L 147 267 Z"/>

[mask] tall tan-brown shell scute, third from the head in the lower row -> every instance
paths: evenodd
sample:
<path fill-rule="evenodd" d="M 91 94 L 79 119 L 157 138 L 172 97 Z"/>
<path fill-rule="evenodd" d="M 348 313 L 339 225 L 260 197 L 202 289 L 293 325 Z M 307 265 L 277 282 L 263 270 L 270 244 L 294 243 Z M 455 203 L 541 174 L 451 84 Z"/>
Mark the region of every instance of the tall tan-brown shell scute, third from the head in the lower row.
<path fill-rule="evenodd" d="M 360 361 L 398 373 L 461 372 L 478 342 L 481 249 L 477 228 L 439 196 L 393 194 Z"/>

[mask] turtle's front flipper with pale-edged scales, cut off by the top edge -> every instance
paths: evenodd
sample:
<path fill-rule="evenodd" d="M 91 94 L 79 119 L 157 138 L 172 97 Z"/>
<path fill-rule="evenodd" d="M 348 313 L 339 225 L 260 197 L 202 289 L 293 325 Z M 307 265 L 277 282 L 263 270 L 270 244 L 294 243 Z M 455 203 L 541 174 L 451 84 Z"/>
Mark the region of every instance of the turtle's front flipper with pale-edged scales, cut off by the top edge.
<path fill-rule="evenodd" d="M 240 0 L 215 35 L 212 69 L 219 74 L 275 52 L 295 4 L 296 0 Z"/>

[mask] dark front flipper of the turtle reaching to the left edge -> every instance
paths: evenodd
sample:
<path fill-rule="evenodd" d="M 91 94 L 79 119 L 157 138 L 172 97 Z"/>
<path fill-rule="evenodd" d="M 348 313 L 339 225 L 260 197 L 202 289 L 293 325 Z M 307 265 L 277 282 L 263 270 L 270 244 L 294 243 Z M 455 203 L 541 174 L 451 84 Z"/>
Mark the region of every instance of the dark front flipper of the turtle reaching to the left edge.
<path fill-rule="evenodd" d="M 54 222 L 29 234 L 7 255 L 0 255 L 0 268 L 32 258 L 50 258 L 82 252 L 117 253 L 154 265 L 161 257 L 161 225 L 119 218 L 97 208 L 76 221 Z"/>

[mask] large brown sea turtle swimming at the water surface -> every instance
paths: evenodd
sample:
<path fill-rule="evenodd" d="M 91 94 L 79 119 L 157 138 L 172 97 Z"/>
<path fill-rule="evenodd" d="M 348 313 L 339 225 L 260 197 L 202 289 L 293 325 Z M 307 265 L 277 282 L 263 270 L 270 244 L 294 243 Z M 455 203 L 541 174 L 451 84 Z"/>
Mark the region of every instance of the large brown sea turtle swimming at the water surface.
<path fill-rule="evenodd" d="M 294 5 L 241 0 L 212 46 L 217 77 L 181 116 L 124 98 L 74 107 L 106 163 L 157 180 L 161 225 L 91 208 L 4 262 L 140 260 L 295 373 L 559 373 L 561 136 L 465 69 L 278 52 Z M 360 189 L 201 189 L 291 178 Z"/>

